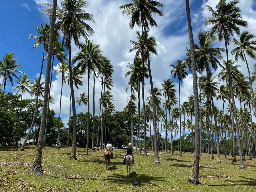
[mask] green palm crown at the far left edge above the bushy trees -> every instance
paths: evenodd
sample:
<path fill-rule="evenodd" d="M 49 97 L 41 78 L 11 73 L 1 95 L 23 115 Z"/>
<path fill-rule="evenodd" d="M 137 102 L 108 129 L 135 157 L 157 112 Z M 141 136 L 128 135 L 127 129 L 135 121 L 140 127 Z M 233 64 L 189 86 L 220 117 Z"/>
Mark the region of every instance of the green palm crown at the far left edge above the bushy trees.
<path fill-rule="evenodd" d="M 14 53 L 6 53 L 5 56 L 3 56 L 3 61 L 0 60 L 0 78 L 3 78 L 2 86 L 4 85 L 3 93 L 5 91 L 7 79 L 9 79 L 13 86 L 12 76 L 17 79 L 18 77 L 15 73 L 25 74 L 22 71 L 17 70 L 17 68 L 22 68 L 22 66 L 20 64 L 16 64 L 20 58 L 14 58 L 14 55 Z"/>

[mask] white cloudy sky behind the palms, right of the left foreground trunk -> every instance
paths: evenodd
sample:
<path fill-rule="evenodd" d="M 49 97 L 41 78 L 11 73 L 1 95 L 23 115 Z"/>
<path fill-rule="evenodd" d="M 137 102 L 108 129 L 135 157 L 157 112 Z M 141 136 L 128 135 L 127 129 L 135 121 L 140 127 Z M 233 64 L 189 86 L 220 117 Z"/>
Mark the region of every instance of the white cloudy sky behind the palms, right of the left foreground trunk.
<path fill-rule="evenodd" d="M 39 7 L 42 9 L 41 4 L 52 3 L 48 0 L 34 0 Z M 134 29 L 129 28 L 130 17 L 127 15 L 122 15 L 118 6 L 125 4 L 129 1 L 114 1 L 114 0 L 92 0 L 89 1 L 89 6 L 86 8 L 87 12 L 92 13 L 95 18 L 95 23 L 88 23 L 95 31 L 95 34 L 90 36 L 90 39 L 94 43 L 99 44 L 103 55 L 111 60 L 113 68 L 115 70 L 113 74 L 114 87 L 112 88 L 112 94 L 114 95 L 114 105 L 116 110 L 122 111 L 126 106 L 126 100 L 130 96 L 129 91 L 126 92 L 125 88 L 128 86 L 128 78 L 124 75 L 128 71 L 126 67 L 127 63 L 132 63 L 135 56 L 134 53 L 128 53 L 131 48 L 130 40 L 136 40 L 136 30 L 141 30 L 139 27 Z M 202 1 L 201 7 L 197 10 L 191 12 L 192 25 L 193 25 L 193 35 L 194 41 L 197 42 L 197 32 L 200 26 L 204 23 L 204 20 L 211 16 L 208 12 L 205 4 L 212 6 L 215 9 L 215 5 L 218 0 L 204 0 Z M 59 2 L 58 2 L 59 3 Z M 190 4 L 194 4 L 195 1 L 191 1 Z M 174 65 L 177 60 L 185 59 L 187 52 L 186 46 L 188 46 L 188 32 L 186 23 L 186 9 L 183 1 L 163 1 L 164 7 L 162 8 L 164 17 L 153 16 L 156 20 L 158 27 L 151 27 L 149 35 L 156 37 L 157 41 L 157 56 L 152 56 L 151 58 L 151 72 L 153 76 L 154 87 L 161 88 L 160 83 L 164 79 L 171 78 L 175 80 L 171 75 L 170 64 Z M 252 0 L 241 0 L 238 6 L 241 8 L 241 13 L 244 20 L 248 22 L 248 28 L 243 28 L 242 30 L 249 30 L 252 33 L 255 31 L 256 26 L 256 13 L 252 9 Z M 44 16 L 45 17 L 45 16 Z M 210 26 L 204 26 L 203 30 L 209 30 Z M 237 37 L 237 36 L 236 36 Z M 81 40 L 84 42 L 84 40 Z M 223 42 L 220 44 L 216 42 L 214 46 L 224 47 Z M 228 52 L 234 48 L 232 44 L 228 46 Z M 72 46 L 72 56 L 74 56 L 79 49 L 76 46 Z M 225 58 L 225 54 L 223 54 Z M 229 57 L 232 59 L 234 56 L 231 54 Z M 248 58 L 250 63 L 254 63 L 250 58 Z M 241 66 L 244 63 L 240 62 Z M 220 69 L 219 69 L 220 70 Z M 250 65 L 250 70 L 252 70 L 252 64 Z M 241 68 L 241 71 L 247 75 L 247 69 L 245 67 Z M 214 75 L 217 75 L 219 71 L 216 71 Z M 51 104 L 56 114 L 59 113 L 59 100 L 60 100 L 60 88 L 61 88 L 61 76 L 54 74 L 56 77 L 52 82 L 51 95 L 55 100 L 55 105 Z M 217 80 L 217 79 L 216 79 Z M 145 80 L 145 98 L 149 96 L 150 83 L 149 80 Z M 93 89 L 93 78 L 90 78 L 90 101 L 92 101 L 92 89 Z M 176 89 L 178 93 L 178 83 L 176 82 Z M 62 96 L 62 115 L 63 120 L 67 123 L 69 116 L 69 94 L 70 88 L 67 84 L 63 86 L 63 96 Z M 80 93 L 85 92 L 87 94 L 87 76 L 84 76 L 83 86 L 77 90 L 75 88 L 75 98 L 79 96 Z M 96 100 L 96 115 L 99 112 L 98 99 L 100 98 L 101 84 L 98 79 L 95 82 L 95 100 Z M 181 93 L 181 103 L 188 100 L 188 97 L 193 94 L 193 84 L 192 84 L 192 74 L 189 74 L 187 78 L 183 80 L 180 86 Z M 179 95 L 177 94 L 177 97 Z M 179 98 L 177 98 L 179 99 Z M 163 97 L 163 102 L 165 98 Z M 222 108 L 220 102 L 216 103 L 218 108 Z M 177 105 L 178 106 L 178 105 Z M 175 107 L 177 107 L 175 106 Z M 142 102 L 141 107 L 142 108 Z M 83 107 L 83 111 L 87 108 Z M 90 107 L 92 112 L 92 104 Z M 81 106 L 76 105 L 76 112 L 81 111 Z"/>

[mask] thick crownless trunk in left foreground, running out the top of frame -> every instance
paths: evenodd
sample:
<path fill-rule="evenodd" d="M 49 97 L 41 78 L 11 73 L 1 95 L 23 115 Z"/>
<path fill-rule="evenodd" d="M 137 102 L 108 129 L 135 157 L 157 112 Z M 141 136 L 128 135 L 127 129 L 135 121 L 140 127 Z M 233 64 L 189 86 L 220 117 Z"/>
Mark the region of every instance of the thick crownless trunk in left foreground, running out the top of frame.
<path fill-rule="evenodd" d="M 48 51 L 50 53 L 52 52 L 54 22 L 55 22 L 55 17 L 56 17 L 56 7 L 57 7 L 57 0 L 53 0 L 51 26 L 50 26 L 50 37 L 49 37 L 49 45 L 48 45 Z M 40 132 L 39 132 L 39 137 L 38 137 L 38 142 L 37 142 L 36 158 L 33 163 L 33 166 L 30 169 L 30 171 L 33 172 L 35 175 L 43 174 L 43 169 L 42 169 L 41 163 L 42 163 L 42 149 L 43 149 L 45 120 L 46 120 L 47 102 L 48 102 L 48 93 L 49 93 L 49 80 L 50 80 L 50 74 L 51 74 L 51 60 L 52 60 L 52 54 L 48 54 L 47 63 L 46 63 L 46 73 L 45 73 L 42 118 L 41 118 Z"/>

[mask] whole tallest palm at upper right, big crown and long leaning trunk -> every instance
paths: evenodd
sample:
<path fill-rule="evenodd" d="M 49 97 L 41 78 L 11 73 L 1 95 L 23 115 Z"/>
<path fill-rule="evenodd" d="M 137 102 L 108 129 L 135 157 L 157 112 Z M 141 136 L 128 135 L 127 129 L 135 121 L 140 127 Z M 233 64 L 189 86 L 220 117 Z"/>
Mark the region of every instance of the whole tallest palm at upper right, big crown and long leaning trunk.
<path fill-rule="evenodd" d="M 226 0 L 220 0 L 219 3 L 215 6 L 216 11 L 212 9 L 211 6 L 206 5 L 208 11 L 212 13 L 213 17 L 209 17 L 205 20 L 203 25 L 212 25 L 213 27 L 210 29 L 208 35 L 213 36 L 215 33 L 218 34 L 219 41 L 221 42 L 224 38 L 225 48 L 226 48 L 226 59 L 228 64 L 228 44 L 231 40 L 231 36 L 234 33 L 239 34 L 240 28 L 238 26 L 246 27 L 247 22 L 242 20 L 241 16 L 241 9 L 236 5 L 239 3 L 239 0 L 232 0 L 227 2 Z M 233 105 L 233 113 L 235 116 L 235 124 L 236 124 L 236 132 L 237 132 L 237 143 L 238 143 L 238 151 L 239 151 L 239 158 L 240 158 L 240 169 L 244 169 L 244 162 L 242 157 L 242 149 L 241 149 L 241 142 L 239 136 L 239 127 L 238 127 L 238 119 L 236 113 L 236 104 L 231 80 L 231 73 L 228 64 L 228 80 L 229 80 L 229 87 L 230 87 L 230 95 Z"/>

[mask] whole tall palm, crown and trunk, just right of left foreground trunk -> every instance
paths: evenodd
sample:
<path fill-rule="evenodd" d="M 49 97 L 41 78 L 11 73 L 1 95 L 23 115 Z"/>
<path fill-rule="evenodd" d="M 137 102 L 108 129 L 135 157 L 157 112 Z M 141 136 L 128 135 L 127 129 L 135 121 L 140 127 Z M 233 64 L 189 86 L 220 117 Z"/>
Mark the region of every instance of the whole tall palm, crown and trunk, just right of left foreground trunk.
<path fill-rule="evenodd" d="M 88 38 L 90 34 L 93 34 L 93 29 L 84 21 L 93 20 L 93 15 L 84 11 L 87 7 L 87 1 L 83 0 L 62 0 L 60 7 L 57 7 L 55 28 L 63 33 L 63 42 L 68 50 L 69 58 L 69 80 L 70 80 L 70 92 L 72 100 L 72 125 L 73 125 L 73 139 L 72 139 L 72 152 L 69 157 L 70 160 L 76 160 L 76 106 L 75 95 L 72 79 L 72 65 L 71 65 L 71 42 L 79 46 L 79 38 L 82 36 Z M 51 7 L 52 4 L 43 4 L 44 6 Z M 51 9 L 45 9 L 41 13 L 52 15 Z"/>

